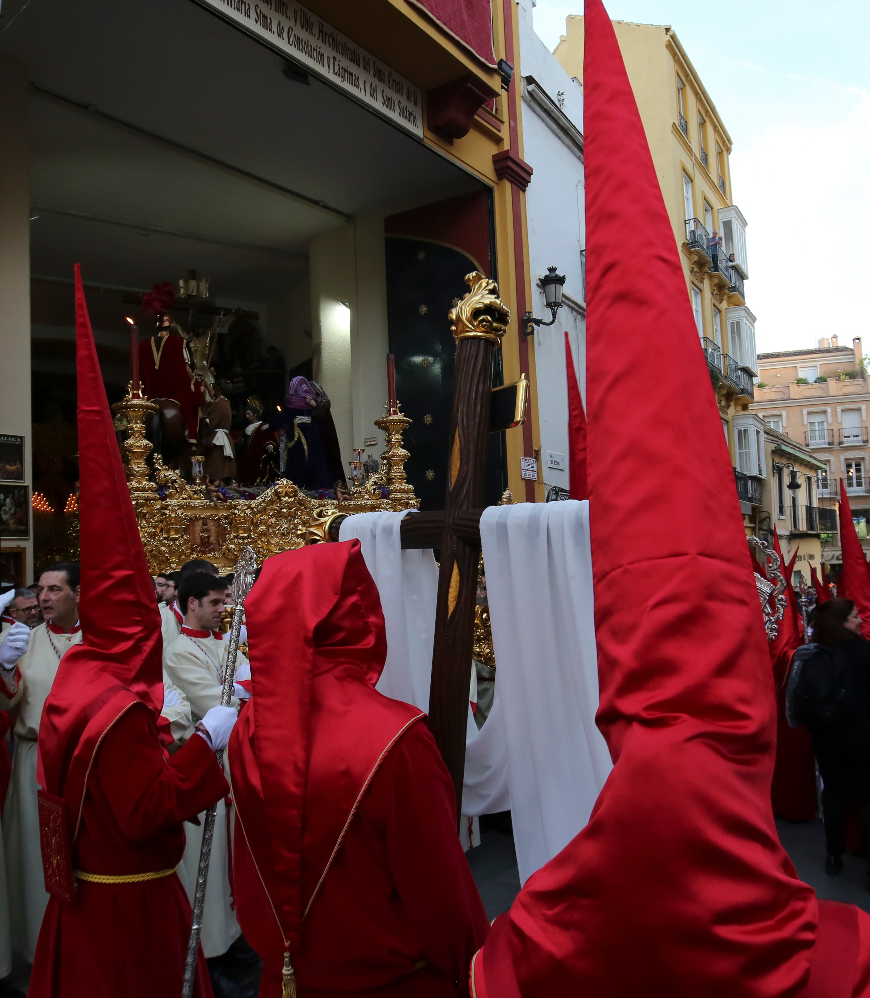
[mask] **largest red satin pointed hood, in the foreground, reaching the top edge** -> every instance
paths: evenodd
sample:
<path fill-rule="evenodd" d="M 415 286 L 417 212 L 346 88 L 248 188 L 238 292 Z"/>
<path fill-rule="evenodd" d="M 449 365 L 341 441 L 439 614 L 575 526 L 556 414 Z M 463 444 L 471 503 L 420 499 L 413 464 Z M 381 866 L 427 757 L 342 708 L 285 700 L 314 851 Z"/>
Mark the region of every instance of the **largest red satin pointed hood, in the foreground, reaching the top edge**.
<path fill-rule="evenodd" d="M 817 905 L 773 821 L 774 690 L 733 469 L 601 0 L 585 30 L 590 529 L 615 765 L 475 970 L 492 996 L 797 994 Z"/>

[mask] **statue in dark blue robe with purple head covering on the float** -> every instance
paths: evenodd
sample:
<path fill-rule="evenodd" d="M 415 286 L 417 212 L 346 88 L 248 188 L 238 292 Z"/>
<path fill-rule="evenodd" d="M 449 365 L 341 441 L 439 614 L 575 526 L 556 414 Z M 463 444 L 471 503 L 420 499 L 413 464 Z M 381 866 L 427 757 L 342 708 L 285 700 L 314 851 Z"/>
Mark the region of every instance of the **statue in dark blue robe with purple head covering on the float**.
<path fill-rule="evenodd" d="M 319 384 L 294 377 L 281 411 L 269 422 L 280 431 L 284 477 L 309 491 L 346 487 L 329 396 Z"/>

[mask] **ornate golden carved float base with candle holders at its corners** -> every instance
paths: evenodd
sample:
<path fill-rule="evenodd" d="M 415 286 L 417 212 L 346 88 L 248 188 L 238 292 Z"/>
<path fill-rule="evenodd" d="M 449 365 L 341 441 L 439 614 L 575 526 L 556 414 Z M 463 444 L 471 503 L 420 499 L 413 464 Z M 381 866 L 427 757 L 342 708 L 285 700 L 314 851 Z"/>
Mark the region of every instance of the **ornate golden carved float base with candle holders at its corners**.
<path fill-rule="evenodd" d="M 206 558 L 230 571 L 248 545 L 261 564 L 270 555 L 327 540 L 330 527 L 345 516 L 420 505 L 404 469 L 409 455 L 402 435 L 411 420 L 398 403 L 387 404 L 384 415 L 375 420 L 386 437 L 379 471 L 365 484 L 351 487 L 347 500 L 312 499 L 281 479 L 255 499 L 216 502 L 208 497 L 202 476 L 191 485 L 165 467 L 157 454 L 153 468 L 149 466 L 153 445 L 146 438 L 145 423 L 157 405 L 140 391 L 134 393 L 132 382 L 127 397 L 112 409 L 116 426 L 126 433 L 122 449 L 130 496 L 153 574 L 175 571 L 192 558 Z"/>

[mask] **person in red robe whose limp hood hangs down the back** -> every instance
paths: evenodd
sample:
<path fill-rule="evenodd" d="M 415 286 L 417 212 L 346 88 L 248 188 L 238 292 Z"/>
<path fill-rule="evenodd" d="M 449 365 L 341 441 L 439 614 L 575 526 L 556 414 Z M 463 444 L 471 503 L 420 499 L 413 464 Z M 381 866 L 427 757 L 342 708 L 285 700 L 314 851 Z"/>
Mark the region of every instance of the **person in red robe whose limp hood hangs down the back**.
<path fill-rule="evenodd" d="M 230 739 L 235 905 L 279 998 L 456 998 L 486 937 L 453 785 L 386 656 L 357 541 L 270 558 L 246 607 L 253 697 Z"/>

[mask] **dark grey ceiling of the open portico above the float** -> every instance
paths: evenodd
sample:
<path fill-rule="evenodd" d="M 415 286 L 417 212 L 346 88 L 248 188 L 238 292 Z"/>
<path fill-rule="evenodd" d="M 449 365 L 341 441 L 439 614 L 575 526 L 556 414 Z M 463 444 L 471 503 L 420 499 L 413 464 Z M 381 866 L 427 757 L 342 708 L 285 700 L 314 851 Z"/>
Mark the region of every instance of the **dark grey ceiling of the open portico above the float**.
<path fill-rule="evenodd" d="M 4 0 L 31 89 L 34 274 L 130 287 L 189 267 L 282 296 L 317 233 L 479 182 L 192 0 Z M 319 204 L 317 204 L 319 203 Z"/>

